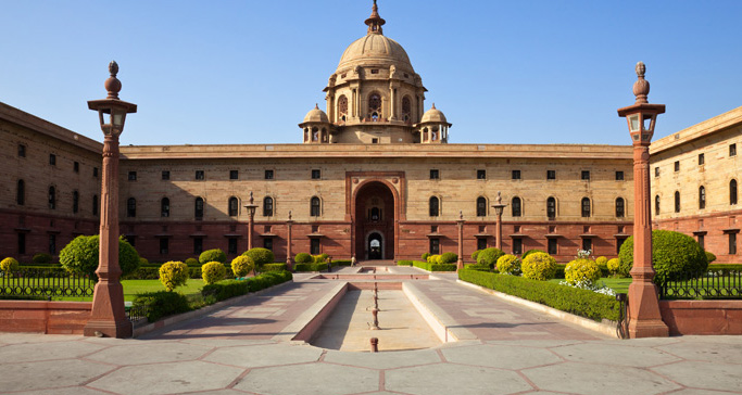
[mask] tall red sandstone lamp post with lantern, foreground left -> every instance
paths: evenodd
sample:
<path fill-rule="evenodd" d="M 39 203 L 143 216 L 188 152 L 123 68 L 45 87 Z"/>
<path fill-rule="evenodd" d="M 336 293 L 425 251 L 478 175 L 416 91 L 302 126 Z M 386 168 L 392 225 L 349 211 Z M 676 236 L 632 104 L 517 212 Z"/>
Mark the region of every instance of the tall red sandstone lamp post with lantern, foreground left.
<path fill-rule="evenodd" d="M 118 136 L 124 131 L 126 114 L 136 113 L 137 105 L 118 100 L 121 81 L 118 64 L 109 64 L 111 77 L 105 80 L 109 95 L 88 101 L 97 111 L 103 130 L 103 179 L 100 217 L 100 250 L 96 275 L 98 283 L 92 296 L 92 311 L 83 333 L 86 336 L 131 337 L 131 321 L 124 310 L 124 289 L 118 266 Z"/>

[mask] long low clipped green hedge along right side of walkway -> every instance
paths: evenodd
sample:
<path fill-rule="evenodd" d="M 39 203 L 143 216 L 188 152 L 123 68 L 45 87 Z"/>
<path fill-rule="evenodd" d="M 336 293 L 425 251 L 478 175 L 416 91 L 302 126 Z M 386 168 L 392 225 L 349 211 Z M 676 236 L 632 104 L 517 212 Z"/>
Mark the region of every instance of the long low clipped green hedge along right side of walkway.
<path fill-rule="evenodd" d="M 458 278 L 462 281 L 540 303 L 595 321 L 602 319 L 618 321 L 620 304 L 614 296 L 559 285 L 553 282 L 528 280 L 516 276 L 503 276 L 478 270 L 460 270 Z"/>

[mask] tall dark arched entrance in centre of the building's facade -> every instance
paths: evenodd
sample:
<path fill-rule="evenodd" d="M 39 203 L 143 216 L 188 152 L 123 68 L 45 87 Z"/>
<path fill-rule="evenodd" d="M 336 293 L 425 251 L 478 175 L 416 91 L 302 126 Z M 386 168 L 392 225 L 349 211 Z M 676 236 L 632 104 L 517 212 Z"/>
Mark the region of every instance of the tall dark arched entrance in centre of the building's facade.
<path fill-rule="evenodd" d="M 360 187 L 355 194 L 355 256 L 357 259 L 394 259 L 394 195 L 381 181 Z"/>

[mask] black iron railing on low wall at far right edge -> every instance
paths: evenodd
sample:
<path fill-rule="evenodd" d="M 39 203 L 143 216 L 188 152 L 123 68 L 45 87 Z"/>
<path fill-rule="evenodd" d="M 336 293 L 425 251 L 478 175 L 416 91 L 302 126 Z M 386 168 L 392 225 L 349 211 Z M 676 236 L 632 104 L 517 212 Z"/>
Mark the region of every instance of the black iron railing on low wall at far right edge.
<path fill-rule="evenodd" d="M 742 298 L 742 271 L 714 269 L 697 279 L 667 280 L 659 286 L 659 297 L 664 300 Z"/>

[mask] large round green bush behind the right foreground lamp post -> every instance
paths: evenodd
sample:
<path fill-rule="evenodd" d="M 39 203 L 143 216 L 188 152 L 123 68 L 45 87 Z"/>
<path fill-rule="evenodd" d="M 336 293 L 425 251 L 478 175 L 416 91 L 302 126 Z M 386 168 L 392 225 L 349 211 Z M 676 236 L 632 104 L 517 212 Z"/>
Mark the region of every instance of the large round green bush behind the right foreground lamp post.
<path fill-rule="evenodd" d="M 633 237 L 626 239 L 618 257 L 620 273 L 628 276 L 633 267 Z M 667 279 L 687 280 L 696 278 L 708 268 L 706 254 L 690 235 L 670 230 L 652 231 L 652 266 L 657 272 L 656 284 Z"/>

